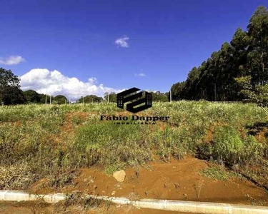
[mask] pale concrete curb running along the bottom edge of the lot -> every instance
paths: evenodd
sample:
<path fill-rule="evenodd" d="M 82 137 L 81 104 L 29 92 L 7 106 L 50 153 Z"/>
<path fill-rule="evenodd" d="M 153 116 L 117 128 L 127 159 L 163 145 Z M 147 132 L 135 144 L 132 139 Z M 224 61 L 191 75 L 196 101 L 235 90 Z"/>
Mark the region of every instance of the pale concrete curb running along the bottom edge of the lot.
<path fill-rule="evenodd" d="M 129 200 L 128 198 L 117 198 L 107 196 L 87 195 L 90 198 L 109 200 L 120 205 L 133 205 L 138 208 L 150 208 L 157 210 L 179 211 L 184 213 L 203 214 L 268 214 L 268 207 L 251 205 L 231 205 L 227 203 L 204 203 L 182 200 L 156 200 L 141 199 Z M 19 191 L 0 190 L 0 200 L 38 200 L 43 198 L 47 203 L 57 203 L 64 200 L 66 195 L 57 193 L 49 195 L 30 195 Z"/>

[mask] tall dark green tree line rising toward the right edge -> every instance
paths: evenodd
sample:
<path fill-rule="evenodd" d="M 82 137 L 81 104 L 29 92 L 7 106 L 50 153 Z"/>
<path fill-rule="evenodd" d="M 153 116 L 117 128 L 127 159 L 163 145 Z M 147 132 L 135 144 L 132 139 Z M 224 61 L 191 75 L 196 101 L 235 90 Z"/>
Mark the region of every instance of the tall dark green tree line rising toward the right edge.
<path fill-rule="evenodd" d="M 268 11 L 259 6 L 247 26 L 238 28 L 230 43 L 199 67 L 187 80 L 175 83 L 174 100 L 242 101 L 266 99 L 268 83 Z"/>

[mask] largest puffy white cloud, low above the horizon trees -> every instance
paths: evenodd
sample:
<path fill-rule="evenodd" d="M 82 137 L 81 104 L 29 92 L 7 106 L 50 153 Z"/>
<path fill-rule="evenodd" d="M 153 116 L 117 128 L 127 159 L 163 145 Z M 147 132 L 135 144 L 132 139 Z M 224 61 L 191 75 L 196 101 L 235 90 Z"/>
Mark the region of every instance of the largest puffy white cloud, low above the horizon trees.
<path fill-rule="evenodd" d="M 33 89 L 38 93 L 52 94 L 54 96 L 62 94 L 69 96 L 72 100 L 77 100 L 81 96 L 96 95 L 103 96 L 105 92 L 114 91 L 119 93 L 121 90 L 104 87 L 103 84 L 96 85 L 96 78 L 89 78 L 88 81 L 79 81 L 78 78 L 64 76 L 59 71 L 49 71 L 44 68 L 35 68 L 25 73 L 21 78 L 21 89 Z"/>

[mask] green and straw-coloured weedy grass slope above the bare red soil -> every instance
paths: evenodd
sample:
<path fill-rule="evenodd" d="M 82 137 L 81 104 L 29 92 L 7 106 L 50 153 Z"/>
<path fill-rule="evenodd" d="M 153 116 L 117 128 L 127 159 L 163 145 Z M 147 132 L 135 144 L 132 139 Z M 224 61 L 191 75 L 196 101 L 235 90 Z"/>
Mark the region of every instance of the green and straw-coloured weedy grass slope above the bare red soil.
<path fill-rule="evenodd" d="M 111 173 L 147 163 L 153 154 L 168 161 L 185 153 L 267 185 L 267 116 L 254 104 L 154 103 L 138 115 L 169 116 L 168 123 L 99 121 L 113 114 L 130 115 L 115 104 L 0 107 L 0 188 L 27 188 L 41 178 L 60 188 L 77 168 L 101 165 Z"/>

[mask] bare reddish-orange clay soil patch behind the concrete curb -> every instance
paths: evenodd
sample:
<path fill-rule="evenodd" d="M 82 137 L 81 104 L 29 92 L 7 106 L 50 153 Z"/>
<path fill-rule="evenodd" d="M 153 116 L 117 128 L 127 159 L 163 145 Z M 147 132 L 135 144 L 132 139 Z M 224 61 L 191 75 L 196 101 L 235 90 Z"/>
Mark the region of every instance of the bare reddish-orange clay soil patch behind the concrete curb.
<path fill-rule="evenodd" d="M 200 175 L 199 170 L 208 167 L 207 161 L 191 157 L 169 163 L 157 161 L 150 163 L 148 167 L 126 169 L 126 178 L 122 183 L 99 168 L 84 168 L 75 180 L 76 185 L 61 189 L 61 192 L 80 190 L 94 195 L 126 197 L 132 200 L 155 198 L 268 205 L 268 194 L 264 189 L 249 180 L 214 180 Z M 34 185 L 30 190 L 34 191 Z M 37 192 L 51 193 L 51 190 L 41 189 Z"/>

